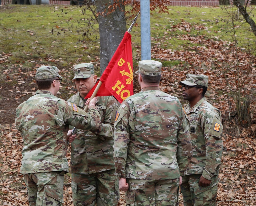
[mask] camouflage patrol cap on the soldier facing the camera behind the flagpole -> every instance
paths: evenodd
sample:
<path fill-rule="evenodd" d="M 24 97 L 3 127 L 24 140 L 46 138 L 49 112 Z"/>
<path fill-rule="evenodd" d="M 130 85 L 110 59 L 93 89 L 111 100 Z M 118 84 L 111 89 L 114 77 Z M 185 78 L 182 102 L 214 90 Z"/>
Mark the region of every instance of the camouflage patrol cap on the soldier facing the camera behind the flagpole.
<path fill-rule="evenodd" d="M 82 78 L 87 79 L 94 74 L 93 64 L 91 63 L 81 63 L 73 68 L 74 79 Z"/>

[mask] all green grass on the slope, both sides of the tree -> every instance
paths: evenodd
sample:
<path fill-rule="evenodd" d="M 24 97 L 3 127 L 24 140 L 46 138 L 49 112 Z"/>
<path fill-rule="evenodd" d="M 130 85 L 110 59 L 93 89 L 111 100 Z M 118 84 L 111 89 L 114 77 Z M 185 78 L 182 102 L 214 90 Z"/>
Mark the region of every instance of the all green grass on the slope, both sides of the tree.
<path fill-rule="evenodd" d="M 72 8 L 72 11 L 69 11 L 69 8 Z M 69 8 L 64 8 L 62 5 L 2 6 L 0 52 L 13 54 L 9 58 L 10 63 L 14 63 L 17 59 L 22 59 L 25 64 L 31 59 L 42 59 L 42 63 L 48 63 L 49 58 L 63 58 L 64 63 L 60 63 L 60 67 L 67 67 L 70 62 L 90 61 L 94 56 L 99 56 L 99 41 L 83 43 L 78 41 L 82 39 L 77 33 L 77 30 L 81 32 L 78 22 L 86 24 L 87 21 L 83 21 L 82 18 L 90 17 L 91 12 L 87 11 L 86 15 L 82 15 L 80 7 Z M 61 12 L 61 9 L 64 9 L 64 12 Z M 236 11 L 233 7 L 228 10 Z M 157 11 L 151 11 L 152 46 L 159 45 L 160 42 L 162 48 L 183 49 L 186 41 L 177 37 L 188 34 L 188 31 L 191 36 L 203 34 L 208 38 L 231 41 L 231 29 L 227 25 L 228 14 L 223 8 L 170 6 L 168 11 L 169 14 L 161 15 Z M 256 16 L 253 17 L 256 13 L 254 10 L 252 12 L 251 16 L 256 20 Z M 189 26 L 186 25 L 183 29 L 175 28 L 183 22 L 189 23 Z M 130 24 L 130 20 L 127 23 Z M 137 23 L 138 27 L 133 27 L 131 33 L 134 47 L 140 46 L 140 19 Z M 249 24 L 238 22 L 236 24 L 240 26 L 237 38 L 241 45 L 245 43 L 245 38 L 255 38 L 252 32 L 248 31 Z M 98 25 L 95 25 L 95 29 L 97 27 Z M 95 35 L 99 37 L 98 34 Z M 83 45 L 86 45 L 87 49 L 83 49 Z M 136 48 L 133 48 L 133 54 L 136 56 Z"/>

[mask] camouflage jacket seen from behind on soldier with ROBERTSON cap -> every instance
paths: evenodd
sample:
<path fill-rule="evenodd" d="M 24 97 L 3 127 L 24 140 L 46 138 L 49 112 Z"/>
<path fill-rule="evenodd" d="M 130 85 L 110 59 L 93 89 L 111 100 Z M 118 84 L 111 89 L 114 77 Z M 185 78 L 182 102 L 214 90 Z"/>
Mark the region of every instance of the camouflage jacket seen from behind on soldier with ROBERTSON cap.
<path fill-rule="evenodd" d="M 192 156 L 189 122 L 178 98 L 143 88 L 118 109 L 114 161 L 118 178 L 175 179 Z"/>

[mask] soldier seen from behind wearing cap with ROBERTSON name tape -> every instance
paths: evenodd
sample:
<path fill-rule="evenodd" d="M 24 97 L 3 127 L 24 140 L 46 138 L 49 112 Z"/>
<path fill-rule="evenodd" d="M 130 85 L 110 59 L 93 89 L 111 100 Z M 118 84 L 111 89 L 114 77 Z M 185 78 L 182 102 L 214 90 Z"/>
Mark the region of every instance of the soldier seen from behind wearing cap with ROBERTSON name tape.
<path fill-rule="evenodd" d="M 141 92 L 125 99 L 115 119 L 114 161 L 126 204 L 178 205 L 179 177 L 192 149 L 178 98 L 161 92 L 162 63 L 139 61 Z"/>

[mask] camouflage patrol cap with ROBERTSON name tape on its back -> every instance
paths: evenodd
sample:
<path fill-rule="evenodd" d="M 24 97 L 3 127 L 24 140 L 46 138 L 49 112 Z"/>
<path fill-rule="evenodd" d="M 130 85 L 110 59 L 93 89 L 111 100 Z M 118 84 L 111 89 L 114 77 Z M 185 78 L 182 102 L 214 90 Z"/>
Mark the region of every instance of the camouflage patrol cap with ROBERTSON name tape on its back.
<path fill-rule="evenodd" d="M 141 74 L 145 74 L 148 76 L 158 76 L 161 75 L 162 63 L 154 60 L 142 60 L 139 61 L 139 70 Z"/>

